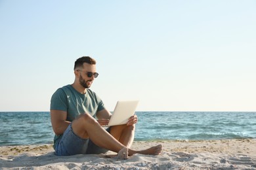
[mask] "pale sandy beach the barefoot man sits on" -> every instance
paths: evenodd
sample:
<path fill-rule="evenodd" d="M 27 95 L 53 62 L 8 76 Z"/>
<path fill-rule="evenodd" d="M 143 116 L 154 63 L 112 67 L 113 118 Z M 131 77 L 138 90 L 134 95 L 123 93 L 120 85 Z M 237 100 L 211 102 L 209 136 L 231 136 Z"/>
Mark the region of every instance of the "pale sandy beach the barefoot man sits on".
<path fill-rule="evenodd" d="M 55 156 L 51 144 L 1 146 L 0 169 L 256 169 L 256 139 L 216 141 L 136 141 L 140 150 L 163 145 L 159 156 L 135 154 L 127 160 L 107 154 Z"/>

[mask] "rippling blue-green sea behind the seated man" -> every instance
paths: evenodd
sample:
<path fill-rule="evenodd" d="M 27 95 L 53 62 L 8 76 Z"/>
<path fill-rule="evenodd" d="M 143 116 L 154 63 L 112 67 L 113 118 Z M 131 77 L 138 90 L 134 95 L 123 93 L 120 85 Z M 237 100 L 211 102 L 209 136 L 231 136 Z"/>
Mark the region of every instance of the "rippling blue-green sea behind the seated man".
<path fill-rule="evenodd" d="M 256 112 L 136 112 L 135 141 L 256 139 Z M 49 112 L 0 112 L 0 146 L 52 144 Z"/>

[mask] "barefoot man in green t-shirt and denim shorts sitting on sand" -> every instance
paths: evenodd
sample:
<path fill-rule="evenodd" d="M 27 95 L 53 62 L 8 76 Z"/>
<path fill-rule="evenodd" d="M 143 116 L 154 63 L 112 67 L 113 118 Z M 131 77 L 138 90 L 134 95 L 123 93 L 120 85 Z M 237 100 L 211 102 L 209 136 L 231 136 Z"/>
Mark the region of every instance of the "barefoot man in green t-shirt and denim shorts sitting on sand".
<path fill-rule="evenodd" d="M 117 152 L 117 158 L 127 159 L 133 154 L 158 155 L 161 144 L 146 150 L 131 150 L 135 135 L 136 115 L 127 124 L 104 129 L 111 113 L 104 103 L 89 88 L 96 73 L 96 61 L 81 57 L 75 61 L 73 84 L 56 90 L 51 98 L 51 123 L 54 137 L 54 150 L 58 156 L 74 154 L 100 154 L 108 150 Z"/>

